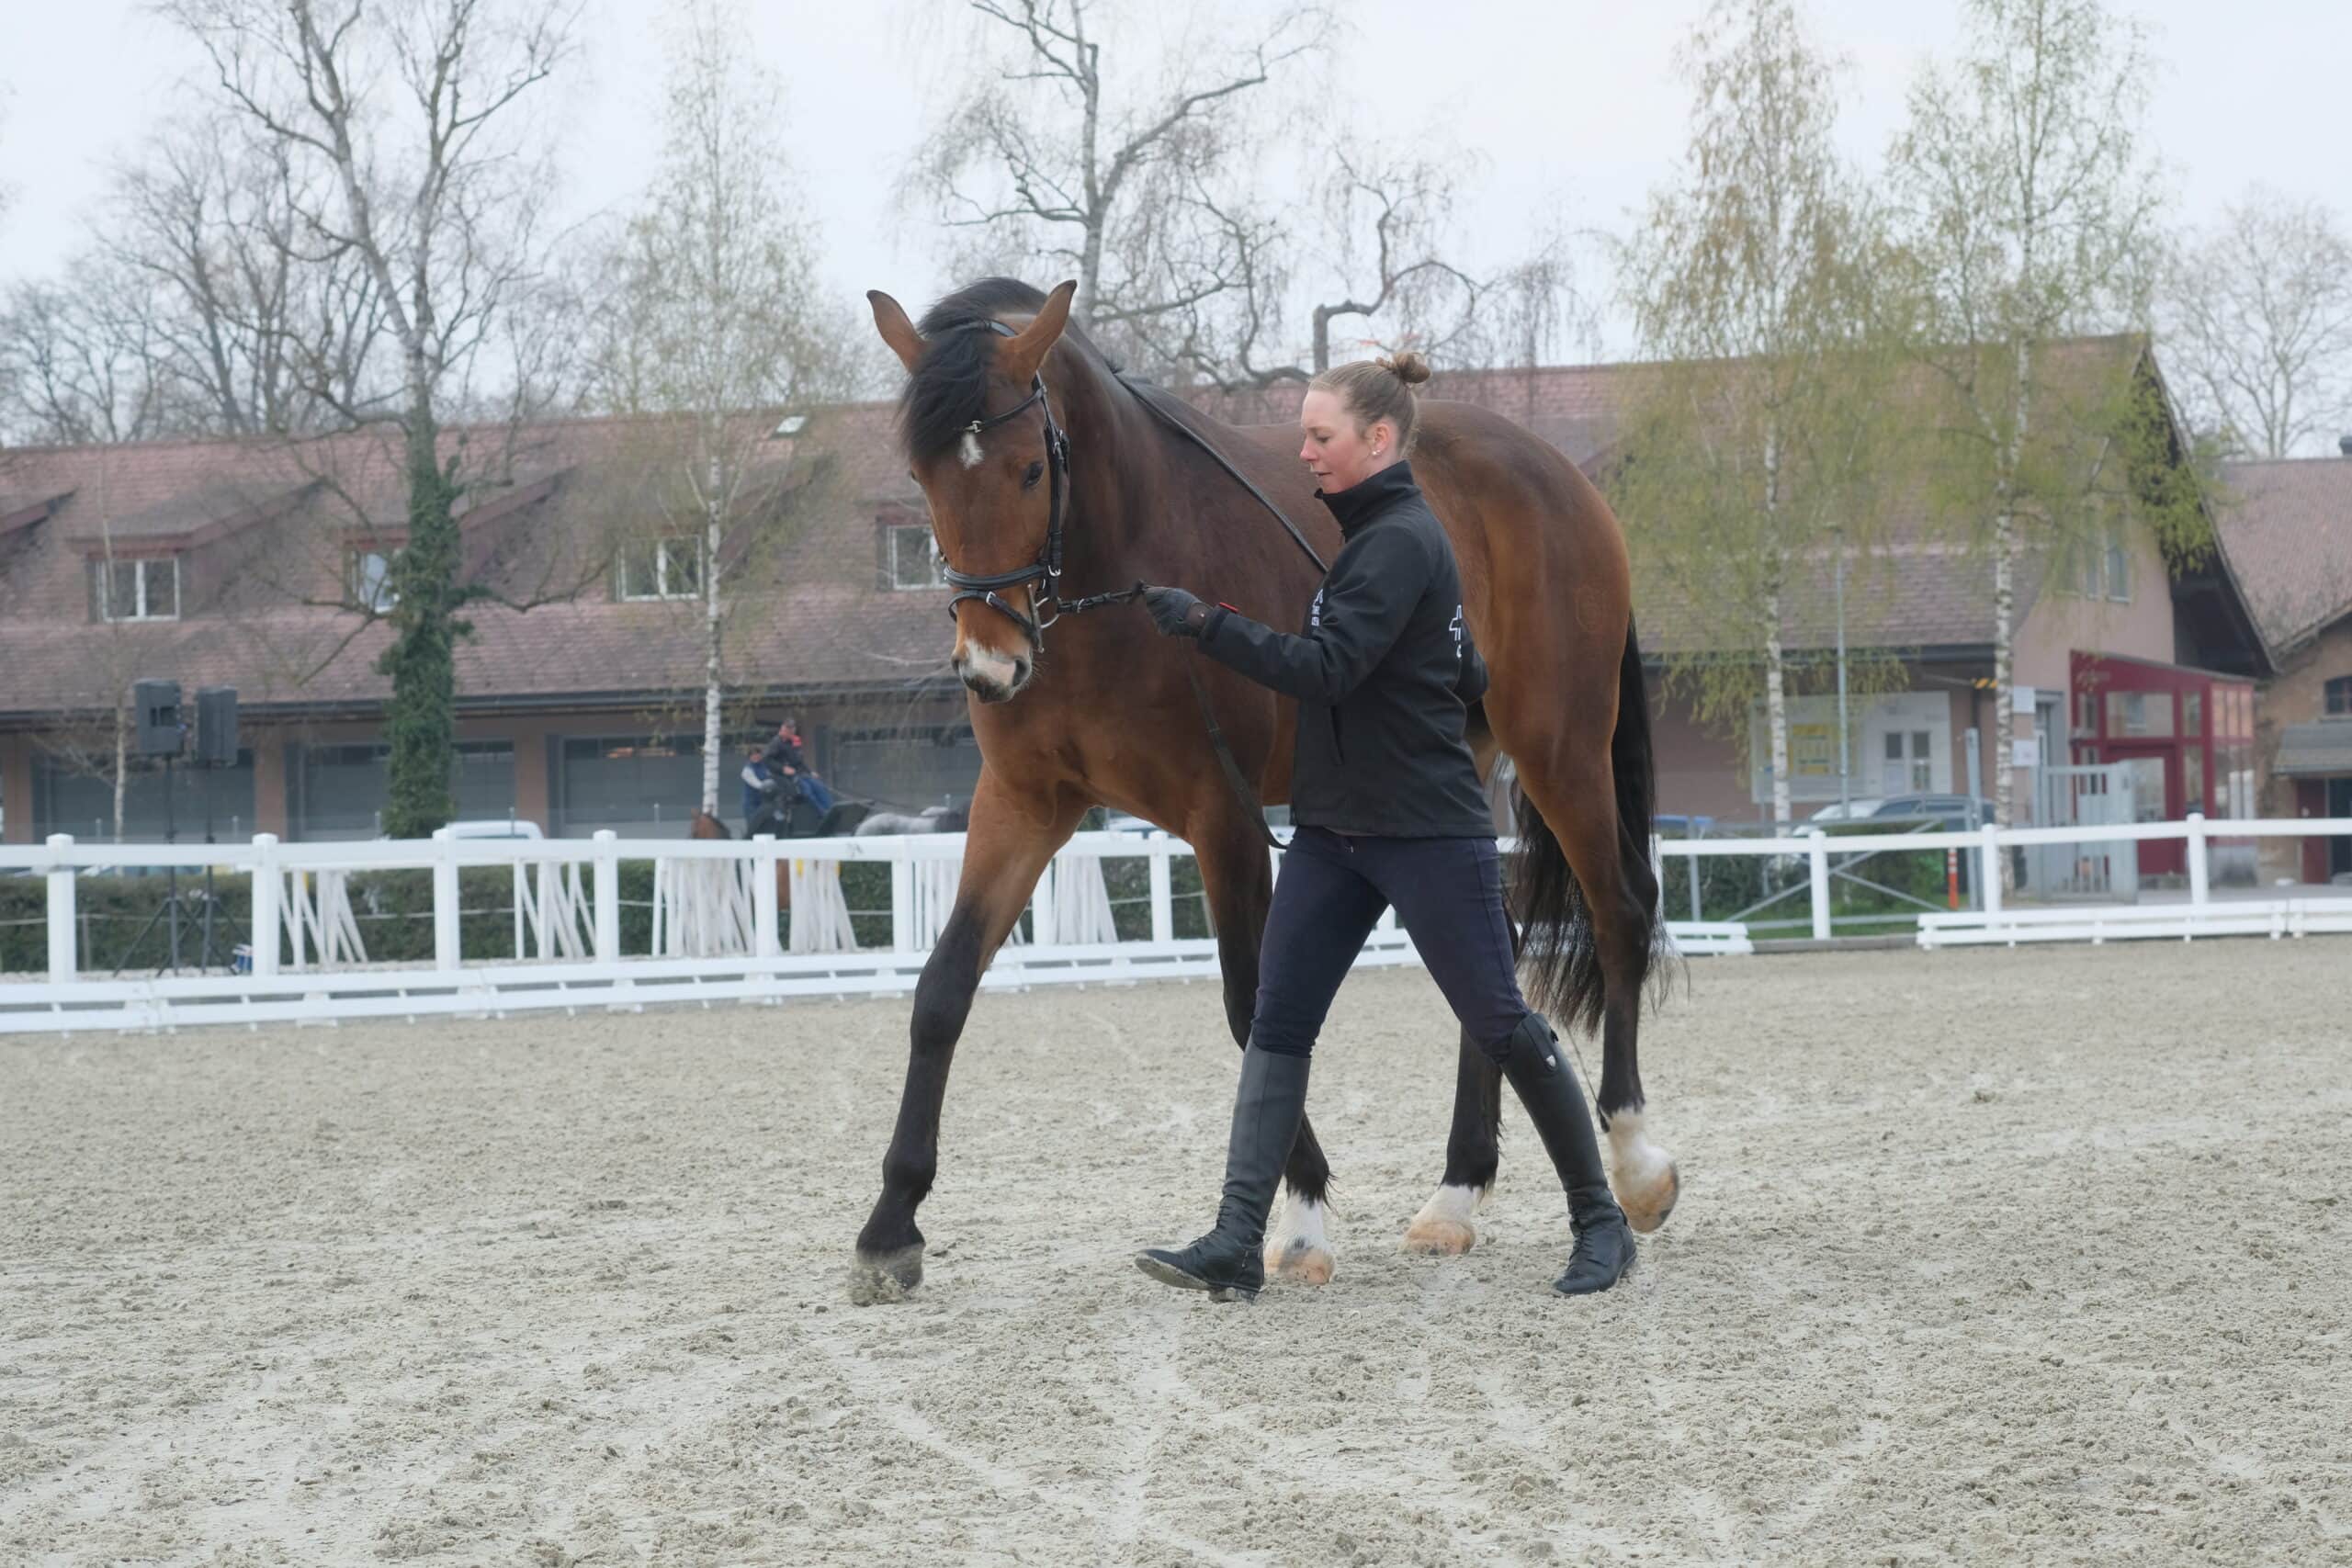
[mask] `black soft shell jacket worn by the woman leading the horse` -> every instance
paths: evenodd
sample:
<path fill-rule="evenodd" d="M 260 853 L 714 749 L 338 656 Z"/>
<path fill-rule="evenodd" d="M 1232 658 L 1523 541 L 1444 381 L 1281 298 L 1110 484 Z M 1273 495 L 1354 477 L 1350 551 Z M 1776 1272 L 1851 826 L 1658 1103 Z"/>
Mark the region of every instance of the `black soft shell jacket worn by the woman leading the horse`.
<path fill-rule="evenodd" d="M 1200 646 L 1298 701 L 1291 820 L 1395 839 L 1491 837 L 1494 818 L 1463 741 L 1486 665 L 1463 618 L 1461 567 L 1444 527 L 1392 463 L 1336 496 L 1341 545 L 1296 637 L 1223 604 Z"/>

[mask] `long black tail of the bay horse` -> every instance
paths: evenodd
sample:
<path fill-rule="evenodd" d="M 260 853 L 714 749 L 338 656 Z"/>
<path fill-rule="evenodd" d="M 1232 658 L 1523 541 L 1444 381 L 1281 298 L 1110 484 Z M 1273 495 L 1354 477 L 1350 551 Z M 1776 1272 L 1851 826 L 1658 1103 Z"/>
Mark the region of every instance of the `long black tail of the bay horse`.
<path fill-rule="evenodd" d="M 1609 736 L 1609 771 L 1616 780 L 1618 860 L 1628 891 L 1628 919 L 1642 945 L 1637 990 L 1658 961 L 1658 879 L 1649 865 L 1649 835 L 1658 811 L 1658 764 L 1649 741 L 1649 693 L 1642 686 L 1642 646 L 1632 618 L 1625 621 L 1625 656 L 1618 661 L 1618 719 Z M 1512 903 L 1526 931 L 1529 1001 L 1564 1025 L 1595 1027 L 1606 1001 L 1592 910 L 1576 882 L 1552 825 L 1519 790 L 1519 863 Z"/>

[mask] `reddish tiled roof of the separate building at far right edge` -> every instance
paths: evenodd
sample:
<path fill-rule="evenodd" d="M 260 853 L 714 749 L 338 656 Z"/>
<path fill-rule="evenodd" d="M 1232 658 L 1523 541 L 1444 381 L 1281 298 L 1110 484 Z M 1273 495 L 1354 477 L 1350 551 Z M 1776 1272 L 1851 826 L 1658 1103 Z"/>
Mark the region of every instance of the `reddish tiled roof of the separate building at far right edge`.
<path fill-rule="evenodd" d="M 2352 614 L 2352 458 L 2225 465 L 2220 536 L 2272 646 Z"/>

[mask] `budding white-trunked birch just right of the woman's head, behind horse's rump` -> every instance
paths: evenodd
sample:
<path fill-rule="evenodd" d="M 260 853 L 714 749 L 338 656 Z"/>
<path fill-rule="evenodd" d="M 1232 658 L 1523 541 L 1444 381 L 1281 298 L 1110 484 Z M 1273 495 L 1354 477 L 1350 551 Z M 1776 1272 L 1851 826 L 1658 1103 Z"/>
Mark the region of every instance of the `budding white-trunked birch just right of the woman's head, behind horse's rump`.
<path fill-rule="evenodd" d="M 1795 0 L 1722 0 L 1682 66 L 1684 172 L 1625 249 L 1642 350 L 1661 364 L 1611 494 L 1644 571 L 1708 628 L 1672 679 L 1743 733 L 1762 684 L 1771 813 L 1788 830 L 1792 595 L 1818 609 L 1832 550 L 1867 545 L 1877 520 L 1877 240 L 1832 146 L 1832 63 Z"/>

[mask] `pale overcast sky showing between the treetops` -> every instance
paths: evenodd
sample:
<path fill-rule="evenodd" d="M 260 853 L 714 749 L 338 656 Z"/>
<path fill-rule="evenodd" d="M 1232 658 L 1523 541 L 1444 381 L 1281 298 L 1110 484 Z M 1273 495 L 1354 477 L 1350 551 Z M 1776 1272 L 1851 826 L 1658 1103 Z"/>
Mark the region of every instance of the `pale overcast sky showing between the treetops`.
<path fill-rule="evenodd" d="M 790 94 L 802 186 L 823 226 L 828 282 L 908 303 L 941 292 L 936 244 L 898 216 L 891 183 L 955 68 L 955 0 L 757 0 L 757 47 Z M 1240 7 L 1247 12 L 1247 7 Z M 1623 228 L 1672 174 L 1684 89 L 1672 49 L 1698 0 L 1343 0 L 1336 78 L 1404 125 L 1444 125 L 1489 158 L 1470 221 L 1498 249 L 1531 212 Z M 2249 181 L 2352 207 L 2352 2 L 2140 0 L 2164 61 L 2150 136 L 2180 214 L 2204 219 Z M 654 141 L 659 0 L 588 0 L 586 52 L 560 103 L 564 200 L 626 205 Z M 1919 59 L 1950 52 L 1952 0 L 1813 0 L 1818 38 L 1849 56 L 1844 139 L 1877 160 Z M 111 158 L 198 61 L 139 0 L 0 0 L 0 282 L 52 273 L 75 249 Z M 1047 280 L 1037 280 L 1047 282 Z"/>

